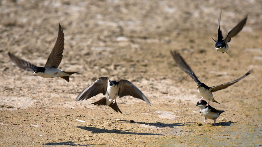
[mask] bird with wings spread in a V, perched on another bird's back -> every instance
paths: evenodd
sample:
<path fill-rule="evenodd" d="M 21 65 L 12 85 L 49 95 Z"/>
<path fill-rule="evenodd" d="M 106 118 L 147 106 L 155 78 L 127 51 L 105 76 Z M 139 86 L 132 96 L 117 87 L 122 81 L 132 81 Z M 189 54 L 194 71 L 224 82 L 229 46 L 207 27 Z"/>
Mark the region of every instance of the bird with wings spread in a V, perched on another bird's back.
<path fill-rule="evenodd" d="M 208 103 L 206 104 L 206 106 L 208 106 L 208 104 L 210 103 L 210 100 L 218 103 L 217 101 L 215 101 L 212 92 L 225 89 L 229 87 L 230 85 L 237 83 L 239 80 L 241 80 L 242 78 L 245 78 L 247 75 L 249 75 L 253 71 L 252 69 L 248 71 L 244 76 L 236 80 L 233 80 L 231 82 L 220 84 L 220 85 L 213 86 L 213 87 L 208 87 L 207 85 L 205 85 L 204 83 L 201 83 L 198 80 L 197 76 L 194 74 L 191 68 L 187 65 L 184 59 L 179 55 L 179 53 L 177 53 L 176 51 L 170 51 L 170 52 L 171 52 L 172 57 L 176 61 L 176 64 L 197 83 L 198 92 L 202 96 L 202 98 L 200 99 L 200 103 L 201 103 L 201 100 L 205 98 L 206 100 L 208 100 Z"/>

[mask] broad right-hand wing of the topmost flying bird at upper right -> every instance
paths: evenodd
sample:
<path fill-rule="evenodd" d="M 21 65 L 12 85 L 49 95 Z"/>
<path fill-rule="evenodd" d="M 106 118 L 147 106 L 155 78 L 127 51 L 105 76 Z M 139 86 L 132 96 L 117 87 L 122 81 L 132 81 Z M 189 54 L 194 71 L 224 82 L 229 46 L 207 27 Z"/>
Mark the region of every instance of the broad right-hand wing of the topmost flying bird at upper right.
<path fill-rule="evenodd" d="M 245 26 L 247 23 L 247 15 L 227 34 L 225 38 L 225 42 L 230 42 L 231 38 L 236 36 L 238 32 L 242 30 L 242 28 Z"/>

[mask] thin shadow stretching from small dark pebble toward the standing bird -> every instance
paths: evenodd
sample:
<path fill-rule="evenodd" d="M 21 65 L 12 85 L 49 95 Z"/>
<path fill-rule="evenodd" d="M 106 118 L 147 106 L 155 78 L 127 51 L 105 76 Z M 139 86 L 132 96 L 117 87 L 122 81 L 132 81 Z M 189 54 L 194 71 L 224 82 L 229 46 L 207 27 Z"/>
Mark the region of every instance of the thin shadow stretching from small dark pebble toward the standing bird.
<path fill-rule="evenodd" d="M 124 122 L 121 122 L 124 121 Z M 121 120 L 120 122 L 113 122 L 113 123 L 129 123 L 129 121 L 126 120 Z M 156 122 L 156 123 L 145 123 L 145 122 L 132 122 L 132 123 L 138 123 L 138 124 L 144 124 L 147 126 L 156 126 L 159 128 L 164 128 L 164 127 L 169 127 L 169 128 L 174 128 L 178 126 L 193 126 L 195 125 L 196 122 L 185 122 L 185 123 L 161 123 L 161 122 Z"/>

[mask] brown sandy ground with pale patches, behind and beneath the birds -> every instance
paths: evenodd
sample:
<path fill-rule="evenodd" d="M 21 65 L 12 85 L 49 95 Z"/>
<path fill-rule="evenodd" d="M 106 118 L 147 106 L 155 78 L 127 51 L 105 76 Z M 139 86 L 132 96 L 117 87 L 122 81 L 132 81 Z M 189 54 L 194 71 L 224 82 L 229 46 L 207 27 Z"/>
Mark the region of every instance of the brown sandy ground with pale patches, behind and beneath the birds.
<path fill-rule="evenodd" d="M 0 146 L 259 146 L 262 134 L 262 3 L 224 1 L 223 35 L 246 14 L 247 25 L 215 50 L 221 3 L 199 1 L 0 1 Z M 10 61 L 8 51 L 44 66 L 61 24 L 65 49 L 59 69 L 81 71 L 41 78 Z M 177 50 L 199 80 L 215 86 L 217 119 L 203 123 L 196 83 L 169 53 Z M 123 112 L 76 102 L 97 78 L 126 79 L 150 100 L 118 98 Z M 134 120 L 130 123 L 130 120 Z M 85 122 L 80 122 L 82 120 Z"/>

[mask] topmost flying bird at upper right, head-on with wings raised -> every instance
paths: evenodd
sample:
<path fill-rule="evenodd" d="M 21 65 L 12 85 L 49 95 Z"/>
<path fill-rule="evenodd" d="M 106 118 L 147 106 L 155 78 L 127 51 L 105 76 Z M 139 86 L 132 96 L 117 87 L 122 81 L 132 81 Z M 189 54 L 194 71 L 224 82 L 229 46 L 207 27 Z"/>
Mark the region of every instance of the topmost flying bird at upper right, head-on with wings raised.
<path fill-rule="evenodd" d="M 218 18 L 218 33 L 217 33 L 217 41 L 213 40 L 216 42 L 216 50 L 220 51 L 222 53 L 228 51 L 228 45 L 226 43 L 231 41 L 231 38 L 236 36 L 241 30 L 242 28 L 245 26 L 246 22 L 247 22 L 247 15 L 231 30 L 229 31 L 229 33 L 226 35 L 226 38 L 223 40 L 223 35 L 222 35 L 222 31 L 220 29 L 220 18 L 221 18 L 221 14 L 222 14 L 222 8 L 220 11 L 220 15 Z"/>

